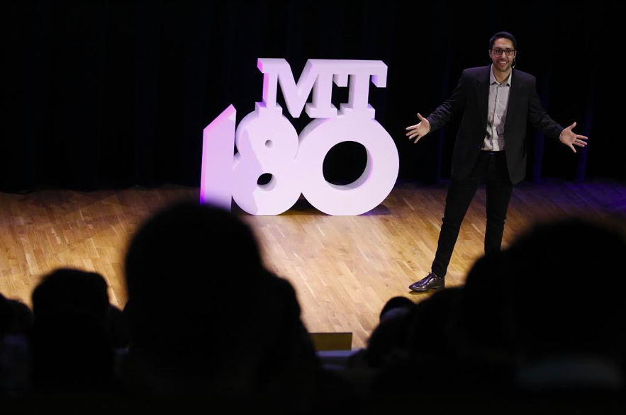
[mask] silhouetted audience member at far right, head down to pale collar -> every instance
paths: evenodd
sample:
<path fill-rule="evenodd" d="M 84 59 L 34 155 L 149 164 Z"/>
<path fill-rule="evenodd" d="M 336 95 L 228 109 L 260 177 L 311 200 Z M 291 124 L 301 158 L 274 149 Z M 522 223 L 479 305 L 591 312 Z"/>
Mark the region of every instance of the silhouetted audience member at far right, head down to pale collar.
<path fill-rule="evenodd" d="M 537 224 L 510 246 L 520 387 L 616 390 L 625 386 L 626 302 L 615 229 L 579 218 Z"/>

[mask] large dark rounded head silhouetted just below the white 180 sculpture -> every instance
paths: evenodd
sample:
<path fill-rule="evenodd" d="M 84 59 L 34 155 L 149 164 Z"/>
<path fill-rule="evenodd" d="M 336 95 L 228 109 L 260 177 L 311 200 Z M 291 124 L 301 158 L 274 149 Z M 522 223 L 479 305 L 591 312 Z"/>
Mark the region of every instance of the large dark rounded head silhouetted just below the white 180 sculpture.
<path fill-rule="evenodd" d="M 148 220 L 130 242 L 125 266 L 133 344 L 186 356 L 206 353 L 216 343 L 212 333 L 227 336 L 233 322 L 247 324 L 263 269 L 250 229 L 197 203 Z"/>

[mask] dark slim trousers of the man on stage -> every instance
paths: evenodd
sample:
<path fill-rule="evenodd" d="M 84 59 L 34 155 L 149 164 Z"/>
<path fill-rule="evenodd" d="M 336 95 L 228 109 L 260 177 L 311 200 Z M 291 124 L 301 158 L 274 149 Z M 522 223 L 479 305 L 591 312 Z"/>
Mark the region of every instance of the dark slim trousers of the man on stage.
<path fill-rule="evenodd" d="M 474 170 L 467 178 L 462 180 L 453 178 L 450 181 L 437 254 L 435 254 L 435 261 L 432 261 L 431 268 L 431 271 L 439 277 L 446 275 L 452 251 L 459 236 L 459 229 L 461 229 L 461 222 L 481 181 L 485 181 L 487 188 L 485 254 L 500 251 L 513 183 L 508 176 L 503 151 L 481 152 Z"/>

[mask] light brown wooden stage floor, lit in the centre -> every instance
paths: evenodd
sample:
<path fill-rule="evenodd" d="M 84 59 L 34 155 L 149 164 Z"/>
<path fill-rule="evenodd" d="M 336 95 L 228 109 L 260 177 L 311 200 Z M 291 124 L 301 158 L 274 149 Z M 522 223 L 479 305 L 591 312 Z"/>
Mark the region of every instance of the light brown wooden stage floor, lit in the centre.
<path fill-rule="evenodd" d="M 389 298 L 403 295 L 418 302 L 427 297 L 412 294 L 408 285 L 430 271 L 446 188 L 446 183 L 397 183 L 384 203 L 357 217 L 328 216 L 303 199 L 279 216 L 234 211 L 255 230 L 267 267 L 296 288 L 309 331 L 351 331 L 352 347 L 362 347 Z M 0 292 L 30 305 L 42 275 L 62 266 L 77 267 L 104 275 L 111 302 L 123 307 L 123 257 L 138 224 L 164 205 L 180 198 L 197 200 L 198 195 L 198 188 L 178 186 L 0 193 Z M 626 185 L 521 183 L 513 192 L 503 246 L 536 220 L 566 215 L 623 218 Z M 485 222 L 482 188 L 459 234 L 447 285 L 463 284 L 484 254 Z M 227 294 L 243 300 L 254 295 L 246 290 Z"/>

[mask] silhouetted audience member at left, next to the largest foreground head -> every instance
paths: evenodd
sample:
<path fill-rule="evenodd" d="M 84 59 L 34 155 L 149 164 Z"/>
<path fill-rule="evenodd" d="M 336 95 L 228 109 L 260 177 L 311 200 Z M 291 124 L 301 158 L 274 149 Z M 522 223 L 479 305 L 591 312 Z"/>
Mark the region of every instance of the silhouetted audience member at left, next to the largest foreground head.
<path fill-rule="evenodd" d="M 59 269 L 33 291 L 33 381 L 40 393 L 116 389 L 107 285 L 97 273 Z"/>

